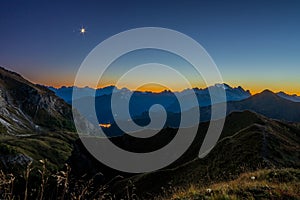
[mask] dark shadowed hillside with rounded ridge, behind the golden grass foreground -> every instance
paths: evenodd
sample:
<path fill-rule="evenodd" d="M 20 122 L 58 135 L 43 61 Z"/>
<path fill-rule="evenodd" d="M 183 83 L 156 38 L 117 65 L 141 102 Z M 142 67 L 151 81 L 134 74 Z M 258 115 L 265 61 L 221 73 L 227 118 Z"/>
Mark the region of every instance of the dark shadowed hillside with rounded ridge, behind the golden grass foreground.
<path fill-rule="evenodd" d="M 126 192 L 125 186 L 130 182 L 135 186 L 136 194 L 146 199 L 162 193 L 162 188 L 167 186 L 206 185 L 228 181 L 240 173 L 262 168 L 300 167 L 298 124 L 271 120 L 249 111 L 234 112 L 226 118 L 221 138 L 215 148 L 204 159 L 199 159 L 198 153 L 207 127 L 208 123 L 201 123 L 194 142 L 184 155 L 175 163 L 156 172 L 132 176 L 110 171 L 89 156 L 80 145 L 77 146 L 79 149 L 74 152 L 72 159 L 87 159 L 85 163 L 89 164 L 72 162 L 71 166 L 77 173 L 82 174 L 103 169 L 104 177 L 129 176 L 112 186 L 113 193 L 122 196 Z M 112 141 L 130 151 L 147 152 L 159 149 L 175 134 L 176 129 L 167 128 L 146 141 L 128 135 L 113 138 Z M 148 195 L 143 191 L 147 191 Z"/>

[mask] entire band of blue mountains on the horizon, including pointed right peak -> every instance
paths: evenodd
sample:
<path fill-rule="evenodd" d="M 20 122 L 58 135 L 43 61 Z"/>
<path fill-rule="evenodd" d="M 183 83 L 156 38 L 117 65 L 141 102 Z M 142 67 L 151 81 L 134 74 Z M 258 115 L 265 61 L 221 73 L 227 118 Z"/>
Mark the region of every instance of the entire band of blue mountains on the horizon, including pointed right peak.
<path fill-rule="evenodd" d="M 254 112 L 261 113 L 268 117 L 274 119 L 282 119 L 287 121 L 299 121 L 299 115 L 297 112 L 299 107 L 300 97 L 296 95 L 287 95 L 283 92 L 273 93 L 271 91 L 263 91 L 260 94 L 251 95 L 249 90 L 244 90 L 242 87 L 233 88 L 228 84 L 215 84 L 211 86 L 210 89 L 218 90 L 218 88 L 224 88 L 226 92 L 226 99 L 228 102 L 228 113 L 232 111 L 241 111 L 241 110 L 252 110 Z M 130 91 L 127 88 L 118 89 L 114 86 L 108 86 L 104 88 L 99 88 L 97 90 L 85 87 L 61 87 L 53 88 L 49 87 L 50 90 L 54 91 L 59 97 L 63 98 L 66 102 L 72 103 L 72 91 L 78 91 L 78 98 L 74 99 L 75 104 L 82 102 L 82 107 L 78 107 L 79 112 L 85 116 L 87 119 L 90 119 L 89 102 L 95 101 L 96 112 L 98 116 L 99 123 L 114 123 L 114 118 L 118 118 L 121 121 L 127 121 L 128 116 L 113 114 L 111 110 L 111 97 L 114 92 L 114 97 L 117 99 L 118 105 L 129 105 L 129 112 L 131 118 L 135 121 L 141 121 L 142 124 L 145 124 L 144 121 L 149 121 L 149 109 L 154 104 L 162 105 L 169 116 L 173 116 L 175 120 L 180 115 L 180 112 L 188 112 L 191 109 L 195 109 L 200 106 L 201 119 L 199 121 L 210 120 L 210 94 L 209 88 L 199 89 L 186 89 L 181 92 L 171 92 L 171 91 L 162 91 L 159 93 L 153 92 L 140 92 L 140 91 Z M 192 93 L 196 94 L 197 103 L 192 103 Z M 95 100 L 93 99 L 95 97 Z M 178 98 L 183 102 L 186 102 L 185 107 L 181 108 L 178 102 Z M 222 100 L 216 96 L 216 103 L 222 103 Z M 291 103 L 294 102 L 294 103 Z M 285 107 L 285 110 L 281 108 Z M 295 108 L 295 109 L 294 109 Z M 120 110 L 121 108 L 116 108 Z M 157 111 L 159 115 L 159 111 Z M 166 124 L 174 126 L 178 124 L 178 120 L 173 121 L 172 124 Z M 176 123 L 175 123 L 176 122 Z M 147 123 L 146 123 L 147 124 Z"/>

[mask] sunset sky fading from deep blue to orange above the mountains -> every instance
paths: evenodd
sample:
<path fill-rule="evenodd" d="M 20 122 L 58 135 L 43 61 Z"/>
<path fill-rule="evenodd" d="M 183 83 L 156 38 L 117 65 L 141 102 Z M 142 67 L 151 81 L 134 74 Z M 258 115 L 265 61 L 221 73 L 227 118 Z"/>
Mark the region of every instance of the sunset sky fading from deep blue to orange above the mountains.
<path fill-rule="evenodd" d="M 87 31 L 84 35 L 79 32 L 82 26 Z M 34 83 L 70 86 L 80 64 L 96 45 L 138 27 L 164 27 L 192 37 L 210 54 L 229 85 L 241 85 L 252 93 L 271 89 L 300 95 L 300 1 L 297 0 L 3 0 L 0 66 Z M 139 58 L 147 61 L 147 56 L 153 53 L 146 52 Z M 163 55 L 158 59 L 170 57 Z M 180 61 L 170 58 L 169 62 L 185 68 Z M 131 62 L 127 59 L 126 63 Z M 125 65 L 119 63 L 119 66 Z M 107 77 L 103 86 L 109 85 L 113 78 Z M 199 81 L 199 87 L 202 86 Z"/>

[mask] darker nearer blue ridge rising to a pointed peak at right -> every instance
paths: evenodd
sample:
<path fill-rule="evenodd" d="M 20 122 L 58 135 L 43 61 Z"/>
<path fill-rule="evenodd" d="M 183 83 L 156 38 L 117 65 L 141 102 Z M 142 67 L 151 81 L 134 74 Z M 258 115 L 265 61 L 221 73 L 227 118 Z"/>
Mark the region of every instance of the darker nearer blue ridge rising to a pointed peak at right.
<path fill-rule="evenodd" d="M 96 97 L 96 102 L 101 102 L 98 98 L 101 97 Z M 102 106 L 103 105 L 105 104 L 102 104 Z M 214 106 L 218 108 L 218 106 L 222 106 L 222 104 L 215 104 Z M 227 102 L 226 106 L 226 115 L 229 115 L 233 112 L 252 111 L 271 119 L 282 120 L 286 122 L 300 122 L 300 103 L 282 98 L 278 94 L 269 90 L 265 90 L 259 94 L 255 94 L 240 101 L 229 101 Z M 211 108 L 211 105 L 203 107 L 196 106 L 183 112 L 186 112 L 186 114 L 195 113 L 195 109 L 199 109 L 200 117 L 198 122 L 206 122 L 211 120 Z M 109 106 L 106 106 L 105 109 L 105 113 L 111 113 Z M 104 108 L 97 107 L 96 110 L 101 112 L 104 110 Z M 88 110 L 86 109 L 85 111 Z M 178 127 L 180 125 L 181 115 L 181 112 L 167 111 L 167 118 L 164 127 Z M 111 114 L 107 116 L 110 116 L 111 127 L 105 129 L 106 134 L 109 136 L 124 134 L 124 132 L 119 129 L 118 125 L 114 122 L 113 115 Z M 160 111 L 156 111 L 152 113 L 152 116 L 156 116 L 158 118 L 161 116 L 161 113 Z M 140 126 L 146 126 L 150 123 L 149 113 L 143 112 L 141 115 L 136 115 L 133 118 L 133 121 Z M 123 121 L 123 123 L 126 123 L 126 121 Z M 194 125 L 196 126 L 197 124 Z"/>

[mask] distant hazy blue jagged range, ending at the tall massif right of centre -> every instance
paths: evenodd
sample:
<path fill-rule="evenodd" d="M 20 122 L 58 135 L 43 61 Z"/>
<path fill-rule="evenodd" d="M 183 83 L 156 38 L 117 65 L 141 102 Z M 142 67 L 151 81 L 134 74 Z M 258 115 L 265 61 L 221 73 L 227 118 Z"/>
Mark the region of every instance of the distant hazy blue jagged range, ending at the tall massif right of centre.
<path fill-rule="evenodd" d="M 98 116 L 99 123 L 114 123 L 114 118 L 118 118 L 121 121 L 127 121 L 128 116 L 122 115 L 123 113 L 113 114 L 111 110 L 111 97 L 114 95 L 116 101 L 115 104 L 117 110 L 119 105 L 129 105 L 129 112 L 132 118 L 141 118 L 143 115 L 148 115 L 150 107 L 154 104 L 162 105 L 168 113 L 179 113 L 182 111 L 188 111 L 195 106 L 209 106 L 211 104 L 209 89 L 218 90 L 219 88 L 224 88 L 226 91 L 227 101 L 239 101 L 246 99 L 251 96 L 249 91 L 245 91 L 242 87 L 232 88 L 227 84 L 216 84 L 210 88 L 199 89 L 186 89 L 181 92 L 171 92 L 168 90 L 154 93 L 154 92 L 140 92 L 140 91 L 130 91 L 127 88 L 118 89 L 114 86 L 108 86 L 105 88 L 99 88 L 97 90 L 85 87 L 61 87 L 55 89 L 49 87 L 50 90 L 54 91 L 59 97 L 64 99 L 68 103 L 72 103 L 72 91 L 76 90 L 78 94 L 76 99 L 74 99 L 74 105 L 80 102 L 83 106 L 77 106 L 76 108 L 79 112 L 85 116 L 90 121 L 93 119 L 90 116 L 91 110 L 89 109 L 90 101 L 95 101 L 96 112 Z M 192 94 L 195 93 L 198 102 L 192 103 Z M 180 98 L 185 102 L 185 107 L 181 108 L 178 102 Z M 94 100 L 95 98 L 95 100 Z M 216 97 L 217 102 L 220 98 Z M 125 112 L 124 112 L 125 113 Z"/>

